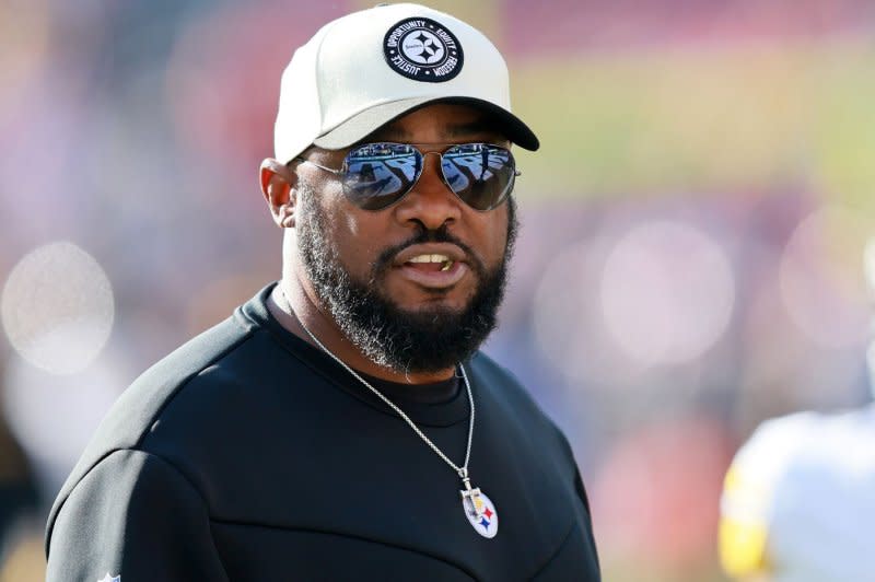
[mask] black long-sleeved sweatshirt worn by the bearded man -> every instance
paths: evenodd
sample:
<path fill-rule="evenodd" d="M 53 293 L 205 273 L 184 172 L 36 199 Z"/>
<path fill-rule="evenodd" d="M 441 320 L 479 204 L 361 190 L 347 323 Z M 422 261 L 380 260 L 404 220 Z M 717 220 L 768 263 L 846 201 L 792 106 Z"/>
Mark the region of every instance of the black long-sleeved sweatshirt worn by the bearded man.
<path fill-rule="evenodd" d="M 568 442 L 511 374 L 482 353 L 465 364 L 471 485 L 499 515 L 489 539 L 456 473 L 273 319 L 271 287 L 118 399 L 51 510 L 47 580 L 600 579 Z M 394 399 L 462 464 L 465 389 Z"/>

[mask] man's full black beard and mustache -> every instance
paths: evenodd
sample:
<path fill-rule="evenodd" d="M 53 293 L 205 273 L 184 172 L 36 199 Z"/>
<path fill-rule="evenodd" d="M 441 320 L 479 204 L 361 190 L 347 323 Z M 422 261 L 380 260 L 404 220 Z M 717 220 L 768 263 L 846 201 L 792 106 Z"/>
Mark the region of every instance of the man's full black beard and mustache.
<path fill-rule="evenodd" d="M 518 226 L 513 198 L 508 198 L 508 238 L 497 266 L 485 266 L 470 247 L 447 232 L 446 225 L 434 231 L 420 225 L 413 237 L 380 254 L 368 280 L 357 280 L 340 261 L 328 234 L 330 221 L 314 189 L 301 182 L 299 187 L 295 230 L 302 264 L 322 305 L 365 357 L 401 373 L 434 373 L 455 366 L 477 351 L 495 328 L 504 298 Z M 460 311 L 443 306 L 402 310 L 382 291 L 380 282 L 393 268 L 393 258 L 408 246 L 422 243 L 453 243 L 468 256 L 478 282 L 474 296 Z"/>

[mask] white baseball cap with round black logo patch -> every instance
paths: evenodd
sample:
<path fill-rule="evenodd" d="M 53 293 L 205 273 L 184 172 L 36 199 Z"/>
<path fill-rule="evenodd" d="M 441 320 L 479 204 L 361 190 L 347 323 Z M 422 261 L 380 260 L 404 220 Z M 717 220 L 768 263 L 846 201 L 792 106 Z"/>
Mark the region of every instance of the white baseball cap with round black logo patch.
<path fill-rule="evenodd" d="M 487 112 L 527 150 L 538 138 L 511 113 L 508 66 L 469 24 L 419 4 L 381 4 L 323 26 L 282 73 L 275 155 L 352 146 L 434 102 Z"/>

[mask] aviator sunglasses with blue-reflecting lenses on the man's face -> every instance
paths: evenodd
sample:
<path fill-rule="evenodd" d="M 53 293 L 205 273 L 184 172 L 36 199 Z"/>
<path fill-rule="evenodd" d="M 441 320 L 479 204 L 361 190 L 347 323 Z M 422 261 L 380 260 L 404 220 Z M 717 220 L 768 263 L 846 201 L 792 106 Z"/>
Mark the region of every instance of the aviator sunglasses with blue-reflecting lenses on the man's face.
<path fill-rule="evenodd" d="M 421 152 L 409 143 L 365 143 L 352 149 L 340 170 L 295 158 L 340 176 L 343 194 L 364 210 L 382 210 L 405 197 L 422 175 L 425 155 L 441 158 L 444 184 L 477 210 L 492 210 L 513 190 L 520 171 L 505 148 L 457 143 L 443 151 Z"/>

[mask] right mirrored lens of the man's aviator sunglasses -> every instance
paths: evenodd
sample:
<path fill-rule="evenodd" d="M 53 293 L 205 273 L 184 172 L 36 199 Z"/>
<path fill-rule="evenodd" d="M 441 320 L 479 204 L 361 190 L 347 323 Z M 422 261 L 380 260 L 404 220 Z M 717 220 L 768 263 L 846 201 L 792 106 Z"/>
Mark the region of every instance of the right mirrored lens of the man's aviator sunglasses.
<path fill-rule="evenodd" d="M 513 188 L 514 161 L 511 152 L 488 143 L 463 143 L 443 154 L 447 185 L 477 210 L 500 205 Z"/>

